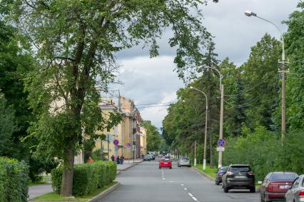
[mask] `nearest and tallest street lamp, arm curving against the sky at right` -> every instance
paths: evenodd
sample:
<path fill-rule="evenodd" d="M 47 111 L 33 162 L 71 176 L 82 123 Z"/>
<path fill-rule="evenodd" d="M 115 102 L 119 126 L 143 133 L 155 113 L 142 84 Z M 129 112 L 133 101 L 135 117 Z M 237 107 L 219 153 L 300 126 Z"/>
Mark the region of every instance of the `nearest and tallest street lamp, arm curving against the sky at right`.
<path fill-rule="evenodd" d="M 284 49 L 284 37 L 282 31 L 274 24 L 272 21 L 268 21 L 267 19 L 263 19 L 257 14 L 251 12 L 251 11 L 245 11 L 245 16 L 255 16 L 258 19 L 262 19 L 263 21 L 267 21 L 268 23 L 275 26 L 276 29 L 280 32 L 280 39 L 282 41 L 282 61 L 280 62 L 282 64 L 282 70 L 279 70 L 280 73 L 282 73 L 282 140 L 285 138 L 285 131 L 286 131 L 286 112 L 285 112 L 285 49 Z"/>

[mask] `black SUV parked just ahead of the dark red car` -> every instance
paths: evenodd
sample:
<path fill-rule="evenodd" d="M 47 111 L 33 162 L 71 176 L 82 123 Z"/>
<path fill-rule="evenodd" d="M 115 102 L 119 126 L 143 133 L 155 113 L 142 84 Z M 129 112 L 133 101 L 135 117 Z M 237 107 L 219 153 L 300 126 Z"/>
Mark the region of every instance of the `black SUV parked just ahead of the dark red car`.
<path fill-rule="evenodd" d="M 255 193 L 255 177 L 250 166 L 243 164 L 230 165 L 223 174 L 223 189 L 228 193 L 229 189 L 245 188 Z"/>

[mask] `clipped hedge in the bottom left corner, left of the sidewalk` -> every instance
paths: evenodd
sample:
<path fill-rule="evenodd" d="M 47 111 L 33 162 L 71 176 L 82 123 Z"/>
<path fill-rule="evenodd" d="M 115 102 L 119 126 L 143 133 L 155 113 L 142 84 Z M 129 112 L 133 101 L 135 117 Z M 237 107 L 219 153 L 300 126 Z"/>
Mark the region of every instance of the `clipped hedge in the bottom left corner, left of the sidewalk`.
<path fill-rule="evenodd" d="M 0 201 L 27 201 L 29 168 L 24 161 L 0 157 Z"/>

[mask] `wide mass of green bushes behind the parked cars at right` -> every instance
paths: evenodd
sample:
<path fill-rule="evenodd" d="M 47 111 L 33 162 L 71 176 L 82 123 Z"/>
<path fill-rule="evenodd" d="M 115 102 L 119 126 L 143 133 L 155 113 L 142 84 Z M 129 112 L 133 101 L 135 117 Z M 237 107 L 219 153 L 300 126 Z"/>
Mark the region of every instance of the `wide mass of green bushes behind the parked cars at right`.
<path fill-rule="evenodd" d="M 238 138 L 227 138 L 223 153 L 223 165 L 248 163 L 255 173 L 256 181 L 263 181 L 273 171 L 304 173 L 304 131 L 290 131 L 281 141 L 280 133 L 263 127 L 245 133 Z"/>

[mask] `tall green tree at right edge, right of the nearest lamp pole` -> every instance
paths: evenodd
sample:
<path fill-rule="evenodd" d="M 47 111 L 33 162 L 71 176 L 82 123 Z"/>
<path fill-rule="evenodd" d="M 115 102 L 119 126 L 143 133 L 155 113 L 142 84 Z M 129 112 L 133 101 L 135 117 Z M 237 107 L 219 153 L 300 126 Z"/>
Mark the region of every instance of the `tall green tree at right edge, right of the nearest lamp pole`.
<path fill-rule="evenodd" d="M 298 11 L 290 14 L 288 31 L 284 35 L 286 54 L 290 63 L 290 73 L 286 80 L 286 120 L 290 129 L 304 128 L 304 3 L 298 4 Z"/>

